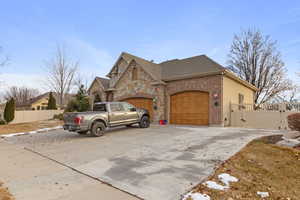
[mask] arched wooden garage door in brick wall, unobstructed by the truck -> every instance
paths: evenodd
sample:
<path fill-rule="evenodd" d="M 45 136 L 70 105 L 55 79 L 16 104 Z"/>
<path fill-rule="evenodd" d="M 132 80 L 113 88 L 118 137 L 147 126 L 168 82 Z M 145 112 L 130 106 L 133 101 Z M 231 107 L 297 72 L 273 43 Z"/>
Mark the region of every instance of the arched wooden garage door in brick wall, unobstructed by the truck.
<path fill-rule="evenodd" d="M 171 96 L 170 123 L 208 125 L 209 98 L 206 92 L 182 92 Z"/>

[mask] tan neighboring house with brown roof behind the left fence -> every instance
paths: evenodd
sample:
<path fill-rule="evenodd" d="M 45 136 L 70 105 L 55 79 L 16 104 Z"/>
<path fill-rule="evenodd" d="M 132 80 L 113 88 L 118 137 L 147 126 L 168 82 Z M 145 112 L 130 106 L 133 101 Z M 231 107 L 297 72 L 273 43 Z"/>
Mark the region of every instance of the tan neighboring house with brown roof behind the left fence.
<path fill-rule="evenodd" d="M 44 94 L 41 94 L 37 97 L 30 99 L 28 102 L 24 104 L 16 105 L 16 110 L 46 110 L 48 107 L 49 94 L 50 92 L 46 92 Z M 60 108 L 58 95 L 56 95 L 56 93 L 53 92 L 53 96 L 56 99 L 56 107 Z M 74 95 L 71 94 L 66 95 L 65 103 L 63 104 L 63 107 L 66 106 L 66 104 L 73 96 Z"/>

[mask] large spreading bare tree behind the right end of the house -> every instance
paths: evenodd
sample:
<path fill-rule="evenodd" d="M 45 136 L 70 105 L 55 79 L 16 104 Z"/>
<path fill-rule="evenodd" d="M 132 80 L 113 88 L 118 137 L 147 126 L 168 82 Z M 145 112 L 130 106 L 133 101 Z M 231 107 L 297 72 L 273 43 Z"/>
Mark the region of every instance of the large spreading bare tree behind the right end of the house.
<path fill-rule="evenodd" d="M 228 68 L 258 88 L 256 105 L 293 89 L 286 78 L 287 70 L 276 49 L 276 41 L 263 36 L 259 30 L 249 29 L 235 35 L 228 57 Z"/>

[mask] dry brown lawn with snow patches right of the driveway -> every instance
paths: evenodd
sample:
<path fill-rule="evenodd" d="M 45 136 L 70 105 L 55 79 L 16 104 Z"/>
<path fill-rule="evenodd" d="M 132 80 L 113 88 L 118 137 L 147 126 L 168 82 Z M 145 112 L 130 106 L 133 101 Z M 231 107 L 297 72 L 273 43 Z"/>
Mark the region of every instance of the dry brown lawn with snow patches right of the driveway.
<path fill-rule="evenodd" d="M 207 194 L 212 200 L 262 199 L 256 193 L 269 192 L 265 199 L 297 200 L 300 198 L 300 150 L 274 145 L 276 136 L 250 142 L 223 163 L 208 180 L 228 173 L 239 179 L 225 191 L 208 189 L 199 184 L 193 191 Z M 275 141 L 274 141 L 275 140 Z"/>

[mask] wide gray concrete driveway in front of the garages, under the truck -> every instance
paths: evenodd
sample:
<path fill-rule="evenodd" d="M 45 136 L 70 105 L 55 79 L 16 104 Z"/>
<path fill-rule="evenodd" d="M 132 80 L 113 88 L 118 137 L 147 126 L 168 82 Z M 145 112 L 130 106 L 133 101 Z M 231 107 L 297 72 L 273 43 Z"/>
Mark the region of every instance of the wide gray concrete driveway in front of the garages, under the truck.
<path fill-rule="evenodd" d="M 152 125 L 148 129 L 112 129 L 100 138 L 57 130 L 7 138 L 5 142 L 140 198 L 174 200 L 252 139 L 279 133 Z M 13 182 L 10 185 L 14 187 Z"/>

